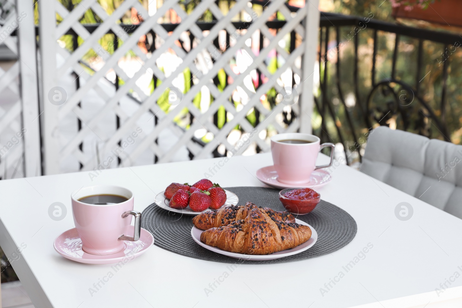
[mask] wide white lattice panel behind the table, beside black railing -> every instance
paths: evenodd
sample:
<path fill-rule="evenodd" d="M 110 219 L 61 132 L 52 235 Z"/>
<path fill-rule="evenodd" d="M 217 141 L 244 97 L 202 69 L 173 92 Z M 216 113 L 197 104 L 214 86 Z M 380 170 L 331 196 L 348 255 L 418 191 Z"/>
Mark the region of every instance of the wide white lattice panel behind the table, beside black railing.
<path fill-rule="evenodd" d="M 271 134 L 310 131 L 319 22 L 311 2 L 291 12 L 284 0 L 229 10 L 214 0 L 125 0 L 112 11 L 97 0 L 41 0 L 45 172 L 268 151 Z M 99 24 L 82 24 L 84 14 Z M 210 15 L 204 30 L 198 21 Z M 164 26 L 166 16 L 181 23 Z M 284 22 L 268 28 L 276 16 Z M 284 100 L 291 93 L 295 104 Z"/>

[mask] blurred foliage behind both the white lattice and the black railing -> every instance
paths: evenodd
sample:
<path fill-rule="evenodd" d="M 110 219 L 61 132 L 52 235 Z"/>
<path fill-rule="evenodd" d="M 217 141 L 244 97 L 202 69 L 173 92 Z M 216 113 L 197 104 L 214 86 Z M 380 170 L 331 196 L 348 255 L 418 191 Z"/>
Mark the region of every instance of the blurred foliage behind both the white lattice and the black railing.
<path fill-rule="evenodd" d="M 35 0 L 36 1 L 36 0 Z M 61 4 L 65 6 L 68 10 L 72 10 L 73 7 L 79 5 L 81 0 L 59 0 Z M 156 0 L 157 6 L 162 5 L 162 0 Z M 104 10 L 110 14 L 123 2 L 123 0 L 98 0 L 99 4 L 104 8 Z M 145 6 L 147 9 L 147 0 L 140 0 L 140 3 Z M 235 1 L 231 0 L 219 0 L 218 6 L 223 14 L 226 14 L 230 7 L 234 5 Z M 197 6 L 195 1 L 192 0 L 181 0 L 179 1 L 179 6 L 185 10 L 187 14 L 191 13 L 195 7 Z M 383 0 L 321 0 L 320 6 L 328 7 L 329 12 L 336 12 L 341 13 L 344 15 L 357 15 L 357 16 L 368 16 L 371 17 L 373 15 L 373 19 L 383 20 L 388 22 L 395 22 L 394 18 L 391 16 L 392 6 L 390 1 L 383 1 Z M 37 7 L 37 6 L 36 6 Z M 253 5 L 253 9 L 258 14 L 261 14 L 263 8 L 259 5 Z M 132 24 L 132 12 L 126 12 L 122 18 L 118 21 L 119 23 L 124 24 Z M 239 15 L 233 18 L 233 20 L 239 20 L 243 16 Z M 282 13 L 278 12 L 275 16 L 275 19 L 278 20 L 285 20 L 285 17 Z M 58 14 L 56 15 L 57 23 L 62 21 L 62 17 Z M 213 20 L 213 15 L 210 11 L 205 11 L 201 18 L 199 19 L 203 22 L 210 22 Z M 80 18 L 80 22 L 82 24 L 98 24 L 102 20 L 95 12 L 91 9 L 86 10 L 84 15 Z M 38 22 L 38 17 L 36 16 L 36 22 Z M 159 22 L 170 22 L 170 15 L 166 14 L 163 18 L 163 21 L 159 20 Z M 336 42 L 335 33 L 333 31 L 334 28 L 331 29 L 331 33 L 329 36 L 329 48 L 335 48 L 340 42 Z M 345 42 L 345 45 L 340 50 L 340 87 L 344 94 L 344 99 L 347 97 L 354 98 L 354 106 L 347 107 L 348 111 L 351 113 L 353 117 L 353 124 L 355 129 L 358 130 L 357 137 L 368 130 L 368 127 L 365 125 L 365 115 L 361 109 L 366 109 L 366 100 L 371 91 L 372 83 L 371 83 L 371 56 L 372 56 L 372 46 L 373 46 L 373 30 L 369 28 L 365 28 L 364 30 L 359 31 L 358 38 L 359 38 L 359 59 L 358 59 L 358 67 L 359 67 L 359 74 L 358 74 L 358 97 L 356 97 L 354 85 L 353 85 L 353 72 L 354 72 L 354 63 L 355 63 L 355 55 L 354 55 L 354 46 L 353 41 L 349 39 L 348 34 L 351 33 L 353 27 L 341 27 L 340 29 L 340 41 Z M 394 40 L 395 35 L 390 34 L 387 32 L 378 31 L 377 34 L 377 63 L 376 63 L 376 82 L 382 79 L 389 78 L 391 74 L 391 63 L 392 63 L 392 54 L 394 48 Z M 297 39 L 300 39 L 297 37 Z M 289 51 L 290 46 L 290 36 L 287 35 L 284 39 L 286 41 L 285 49 Z M 64 35 L 60 38 L 61 44 L 69 50 L 69 52 L 73 51 L 74 45 L 77 44 L 78 46 L 82 44 L 83 40 L 78 37 L 77 42 L 73 40 L 73 36 L 71 35 Z M 109 54 L 113 54 L 115 51 L 115 45 L 121 46 L 123 44 L 122 40 L 117 40 L 113 34 L 106 34 L 100 38 L 98 41 L 99 44 L 102 46 L 102 51 L 89 49 L 88 52 L 82 57 L 82 62 L 90 63 L 91 61 L 98 58 L 98 54 L 101 52 L 107 52 Z M 411 86 L 415 86 L 417 84 L 417 44 L 418 41 L 412 38 L 401 36 L 400 43 L 399 43 L 399 56 L 397 59 L 396 64 L 396 78 L 408 83 Z M 298 45 L 298 43 L 297 43 Z M 421 67 L 422 76 L 429 72 L 426 75 L 425 79 L 421 81 L 419 84 L 420 87 L 420 95 L 425 99 L 427 103 L 432 107 L 435 111 L 436 115 L 439 115 L 439 105 L 441 103 L 441 93 L 442 93 L 442 75 L 443 75 L 443 65 L 441 64 L 442 60 L 442 52 L 444 51 L 444 46 L 442 44 L 433 43 L 429 41 L 424 41 L 424 54 L 423 54 L 423 63 L 424 66 Z M 460 129 L 460 122 L 462 119 L 462 111 L 459 107 L 462 97 L 462 90 L 461 87 L 458 87 L 462 81 L 462 70 L 460 69 L 461 66 L 461 51 L 456 50 L 450 57 L 448 57 L 448 72 L 449 77 L 447 80 L 447 105 L 448 110 L 451 110 L 447 113 L 446 122 L 449 127 L 449 131 L 451 136 L 448 136 L 453 142 L 461 143 L 462 141 L 462 130 Z M 136 57 L 136 54 L 133 51 L 129 51 L 126 56 Z M 341 128 L 341 132 L 345 133 L 345 138 L 347 139 L 347 146 L 354 143 L 353 135 L 349 131 L 349 128 L 346 126 L 346 110 L 342 103 L 340 103 L 339 92 L 337 89 L 337 78 L 336 78 L 336 56 L 333 59 L 328 59 L 326 66 L 321 63 L 319 72 L 320 72 L 320 79 L 323 81 L 323 73 L 324 69 L 327 68 L 327 89 L 328 91 L 325 93 L 326 99 L 329 103 L 332 104 L 335 112 L 334 118 L 326 117 L 325 118 L 325 125 L 326 129 L 328 130 L 328 135 L 334 139 L 334 141 L 338 142 L 340 140 L 338 134 L 336 133 L 335 125 Z M 267 57 L 266 64 L 267 64 L 267 71 L 273 74 L 276 72 L 278 67 L 282 65 L 282 62 L 277 54 L 272 54 L 271 56 Z M 234 60 L 231 60 L 231 65 L 235 64 Z M 88 67 L 85 67 L 87 72 L 93 73 Z M 159 67 L 159 69 L 163 70 L 163 67 Z M 185 93 L 189 91 L 191 83 L 191 72 L 186 69 L 183 72 L 184 75 L 184 89 Z M 265 76 L 262 75 L 262 79 L 265 79 Z M 224 91 L 227 85 L 227 75 L 225 70 L 220 70 L 217 74 L 215 80 L 215 84 L 219 91 Z M 119 77 L 119 85 L 124 83 L 124 80 L 120 79 Z M 154 85 L 154 82 L 156 85 Z M 152 93 L 155 87 L 160 85 L 161 80 L 154 78 L 151 81 L 151 85 L 149 91 Z M 254 89 L 255 90 L 255 89 Z M 167 92 L 169 89 L 166 90 Z M 266 95 L 262 97 L 261 103 L 263 106 L 270 110 L 273 109 L 276 104 L 278 104 L 277 99 L 277 91 L 272 88 L 267 91 Z M 319 97 L 320 102 L 322 97 L 320 89 L 315 89 L 315 95 Z M 213 102 L 213 97 L 210 99 L 210 103 Z M 380 92 L 377 92 L 371 99 L 371 109 L 379 110 L 377 116 L 380 116 L 380 110 L 385 110 L 387 104 L 389 104 L 390 97 L 384 97 L 380 95 Z M 240 101 L 234 101 L 233 97 L 230 97 L 229 100 L 234 103 L 236 108 L 241 104 Z M 199 92 L 194 98 L 194 104 L 197 108 L 201 109 L 204 106 L 201 106 L 201 92 Z M 159 107 L 164 110 L 165 112 L 169 112 L 170 105 L 165 101 L 165 93 L 160 95 L 158 98 L 158 105 Z M 414 108 L 411 111 L 411 117 L 413 117 L 413 123 L 418 123 L 421 121 L 419 119 L 419 104 L 417 102 L 413 103 Z M 207 107 L 208 109 L 208 107 Z M 175 118 L 175 121 L 178 125 L 188 129 L 190 123 L 188 120 L 188 110 L 176 110 L 178 115 Z M 221 106 L 218 110 L 218 118 L 217 118 L 217 125 L 221 129 L 228 118 L 227 112 L 225 111 L 224 107 Z M 321 135 L 322 127 L 320 126 L 321 123 L 321 116 L 319 115 L 318 111 L 315 110 L 313 118 L 313 127 L 315 133 Z M 259 121 L 264 120 L 263 115 L 259 115 L 255 112 L 255 110 L 251 109 L 249 114 L 247 115 L 247 120 L 250 122 L 252 126 L 258 124 Z M 388 121 L 387 125 L 396 126 L 397 128 L 402 127 L 402 121 L 400 116 L 395 116 L 394 119 L 385 119 L 384 121 Z M 290 124 L 283 123 L 283 126 L 287 126 Z M 383 123 L 382 123 L 383 124 Z M 416 133 L 426 133 L 430 137 L 433 138 L 442 138 L 441 133 L 438 132 L 435 127 L 431 125 L 431 123 L 427 122 L 427 131 L 422 132 L 419 131 L 418 128 L 409 127 L 408 130 L 414 131 Z M 236 128 L 240 129 L 239 126 Z M 205 139 L 204 141 L 208 141 Z"/>

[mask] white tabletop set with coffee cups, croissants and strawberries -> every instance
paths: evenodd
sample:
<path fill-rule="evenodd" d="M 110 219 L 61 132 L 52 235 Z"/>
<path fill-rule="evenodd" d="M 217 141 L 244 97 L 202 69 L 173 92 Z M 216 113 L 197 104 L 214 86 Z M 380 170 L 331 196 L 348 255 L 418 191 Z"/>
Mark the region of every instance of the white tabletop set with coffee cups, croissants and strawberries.
<path fill-rule="evenodd" d="M 114 272 L 110 265 L 67 260 L 53 249 L 55 237 L 74 227 L 73 190 L 89 184 L 128 187 L 135 194 L 135 210 L 142 211 L 171 182 L 199 180 L 219 160 L 107 169 L 93 181 L 88 172 L 0 181 L 0 245 L 7 256 L 27 245 L 12 266 L 39 308 L 394 308 L 424 307 L 428 302 L 426 308 L 431 308 L 443 307 L 436 303 L 442 298 L 447 303 L 460 296 L 462 277 L 439 296 L 435 288 L 454 272 L 462 273 L 462 220 L 344 165 L 333 171 L 328 185 L 317 189 L 322 199 L 350 213 L 358 224 L 353 241 L 332 254 L 280 264 L 243 264 L 231 272 L 228 264 L 154 246 Z M 270 154 L 232 157 L 211 180 L 223 187 L 261 186 L 255 171 L 270 164 Z M 414 209 L 408 221 L 395 217 L 395 206 L 403 201 Z M 48 215 L 54 202 L 67 206 L 61 221 Z M 364 260 L 346 272 L 342 266 L 354 261 L 368 243 L 373 248 Z M 109 271 L 114 277 L 91 296 L 89 288 Z M 209 284 L 224 272 L 229 277 L 207 296 L 204 289 L 210 290 Z M 335 278 L 339 272 L 344 277 Z M 325 284 L 331 278 L 338 282 L 330 283 L 328 290 Z M 322 294 L 321 288 L 328 292 Z M 403 296 L 407 297 L 394 300 Z"/>

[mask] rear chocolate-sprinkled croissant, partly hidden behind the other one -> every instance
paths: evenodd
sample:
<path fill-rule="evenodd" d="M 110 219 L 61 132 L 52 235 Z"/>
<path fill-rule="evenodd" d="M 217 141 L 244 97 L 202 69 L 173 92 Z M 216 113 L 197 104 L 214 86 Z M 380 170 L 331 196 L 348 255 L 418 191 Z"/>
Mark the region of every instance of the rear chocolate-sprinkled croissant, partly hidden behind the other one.
<path fill-rule="evenodd" d="M 207 230 L 213 227 L 221 227 L 230 224 L 233 221 L 244 219 L 249 212 L 257 208 L 261 212 L 265 212 L 271 217 L 285 223 L 294 223 L 295 217 L 289 212 L 278 212 L 270 209 L 269 207 L 258 208 L 252 202 L 246 202 L 245 205 L 228 205 L 220 208 L 219 210 L 212 210 L 201 213 L 193 218 L 193 223 L 196 228 Z"/>

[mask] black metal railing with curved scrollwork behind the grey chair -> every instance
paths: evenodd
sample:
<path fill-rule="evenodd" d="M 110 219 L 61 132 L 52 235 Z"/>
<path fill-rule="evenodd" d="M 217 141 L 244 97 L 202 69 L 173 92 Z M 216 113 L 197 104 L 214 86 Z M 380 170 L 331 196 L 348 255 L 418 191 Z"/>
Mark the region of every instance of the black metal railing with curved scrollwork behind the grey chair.
<path fill-rule="evenodd" d="M 385 44 L 393 44 L 392 52 L 390 47 L 380 48 L 384 40 Z M 331 42 L 336 46 L 329 46 Z M 400 42 L 408 45 L 407 52 L 400 50 Z M 391 24 L 373 17 L 321 13 L 318 55 L 321 93 L 315 97 L 315 103 L 322 121 L 315 133 L 323 141 L 340 141 L 348 163 L 361 160 L 364 137 L 377 125 L 393 124 L 430 138 L 451 141 L 448 124 L 456 121 L 447 118 L 448 76 L 450 66 L 454 66 L 452 71 L 457 67 L 460 70 L 461 63 L 451 63 L 449 56 L 435 58 L 435 54 L 438 55 L 436 50 L 442 54 L 446 48 L 453 50 L 460 42 L 461 36 L 448 32 Z M 348 43 L 349 55 L 341 50 L 348 48 Z M 370 56 L 361 52 L 361 47 L 371 51 Z M 428 52 L 428 48 L 432 50 Z M 384 73 L 377 67 L 381 49 L 388 49 L 388 54 L 382 53 L 380 57 L 382 67 L 388 66 L 389 72 Z M 387 58 L 389 61 L 383 60 Z M 348 63 L 343 65 L 345 61 Z M 370 67 L 370 73 L 366 74 L 369 76 L 361 74 L 361 66 Z M 345 72 L 345 68 L 351 72 Z M 438 82 L 432 82 L 431 86 L 438 89 L 439 97 L 428 95 L 422 82 L 433 70 L 437 76 L 434 81 Z M 348 106 L 345 88 L 353 93 L 354 106 Z"/>

